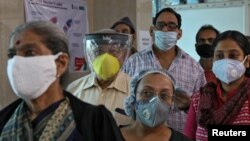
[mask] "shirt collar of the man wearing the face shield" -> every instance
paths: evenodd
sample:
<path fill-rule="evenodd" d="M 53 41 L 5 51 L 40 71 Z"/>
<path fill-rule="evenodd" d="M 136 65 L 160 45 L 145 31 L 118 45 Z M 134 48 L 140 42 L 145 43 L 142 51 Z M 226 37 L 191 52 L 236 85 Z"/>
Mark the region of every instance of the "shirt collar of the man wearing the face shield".
<path fill-rule="evenodd" d="M 97 83 L 95 73 L 92 72 L 89 74 L 89 78 L 87 80 L 86 85 L 83 86 L 82 90 L 88 89 L 90 87 L 100 87 Z M 128 76 L 126 76 L 125 73 L 119 72 L 115 78 L 115 80 L 107 87 L 107 88 L 114 88 L 117 89 L 118 91 L 121 91 L 125 94 L 128 93 L 128 87 L 129 86 L 124 86 L 124 81 L 127 79 Z"/>

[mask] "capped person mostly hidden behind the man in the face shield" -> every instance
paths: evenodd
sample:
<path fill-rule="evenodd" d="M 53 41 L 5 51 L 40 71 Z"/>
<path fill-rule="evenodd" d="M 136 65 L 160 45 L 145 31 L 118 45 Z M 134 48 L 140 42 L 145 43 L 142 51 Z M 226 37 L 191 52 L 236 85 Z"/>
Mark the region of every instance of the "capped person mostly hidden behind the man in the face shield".
<path fill-rule="evenodd" d="M 132 35 L 132 47 L 129 52 L 128 56 L 131 56 L 132 54 L 137 52 L 136 49 L 136 32 L 135 32 L 135 27 L 129 17 L 123 17 L 117 22 L 115 22 L 112 26 L 111 29 L 119 32 L 119 33 L 125 33 L 125 34 L 130 34 Z"/>

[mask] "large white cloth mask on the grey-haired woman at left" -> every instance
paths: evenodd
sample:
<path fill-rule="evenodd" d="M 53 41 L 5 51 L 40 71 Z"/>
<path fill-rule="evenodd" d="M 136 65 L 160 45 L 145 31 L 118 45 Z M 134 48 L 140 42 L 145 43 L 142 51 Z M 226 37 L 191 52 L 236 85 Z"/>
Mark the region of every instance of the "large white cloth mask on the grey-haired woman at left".
<path fill-rule="evenodd" d="M 15 94 L 23 99 L 41 96 L 56 80 L 57 55 L 14 56 L 8 61 L 7 74 Z"/>

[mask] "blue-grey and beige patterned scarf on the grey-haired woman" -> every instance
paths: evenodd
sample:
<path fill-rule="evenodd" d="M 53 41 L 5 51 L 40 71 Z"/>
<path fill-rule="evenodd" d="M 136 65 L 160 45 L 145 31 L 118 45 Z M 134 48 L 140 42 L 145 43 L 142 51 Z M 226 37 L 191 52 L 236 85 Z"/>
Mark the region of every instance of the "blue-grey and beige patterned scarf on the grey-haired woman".
<path fill-rule="evenodd" d="M 27 106 L 22 102 L 5 124 L 0 140 L 50 141 L 66 140 L 75 129 L 75 122 L 69 100 L 63 100 L 50 114 L 35 127 L 27 114 Z"/>

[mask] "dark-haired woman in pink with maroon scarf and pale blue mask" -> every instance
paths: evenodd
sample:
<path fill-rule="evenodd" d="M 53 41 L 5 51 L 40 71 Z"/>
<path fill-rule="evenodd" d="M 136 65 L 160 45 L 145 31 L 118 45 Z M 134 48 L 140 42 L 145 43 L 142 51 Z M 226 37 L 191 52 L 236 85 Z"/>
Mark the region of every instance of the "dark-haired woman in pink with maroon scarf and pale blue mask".
<path fill-rule="evenodd" d="M 184 133 L 208 140 L 208 125 L 250 125 L 250 45 L 240 32 L 219 34 L 213 44 L 212 71 L 218 83 L 207 83 L 193 95 Z"/>

